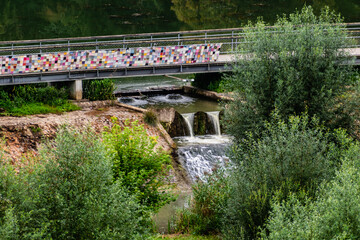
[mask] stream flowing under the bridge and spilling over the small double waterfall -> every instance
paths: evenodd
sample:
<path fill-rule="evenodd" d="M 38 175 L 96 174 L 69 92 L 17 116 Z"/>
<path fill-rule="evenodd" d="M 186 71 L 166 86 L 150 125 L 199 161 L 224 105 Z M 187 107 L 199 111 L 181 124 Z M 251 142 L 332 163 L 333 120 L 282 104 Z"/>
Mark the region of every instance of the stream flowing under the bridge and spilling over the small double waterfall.
<path fill-rule="evenodd" d="M 186 76 L 183 76 L 186 79 Z M 189 84 L 189 81 L 179 81 L 160 77 L 136 78 L 136 84 L 127 81 L 117 82 L 117 91 L 146 91 L 153 88 L 180 87 Z M 191 80 L 190 80 L 191 81 Z M 220 111 L 218 102 L 201 97 L 187 96 L 182 93 L 164 95 L 142 95 L 119 97 L 120 102 L 142 108 L 174 108 L 181 114 L 186 123 L 187 136 L 174 137 L 177 144 L 177 153 L 182 167 L 187 171 L 192 183 L 206 181 L 214 169 L 224 168 L 229 159 L 226 156 L 227 146 L 231 139 L 221 133 Z M 212 134 L 197 135 L 194 133 L 194 119 L 198 112 L 206 113 L 208 125 Z M 176 209 L 188 207 L 191 191 L 180 191 L 175 202 L 164 206 L 155 216 L 159 232 L 167 232 L 168 222 L 175 215 Z"/>

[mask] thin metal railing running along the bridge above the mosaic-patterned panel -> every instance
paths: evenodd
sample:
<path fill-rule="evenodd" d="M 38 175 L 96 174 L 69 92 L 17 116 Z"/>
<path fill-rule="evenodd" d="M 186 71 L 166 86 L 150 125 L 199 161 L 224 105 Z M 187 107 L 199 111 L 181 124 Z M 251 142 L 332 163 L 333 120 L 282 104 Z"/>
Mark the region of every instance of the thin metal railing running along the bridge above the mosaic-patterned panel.
<path fill-rule="evenodd" d="M 360 47 L 360 23 L 345 24 L 349 37 Z M 276 29 L 274 29 L 276 31 Z M 244 42 L 244 28 L 209 29 L 182 32 L 142 33 L 77 38 L 57 38 L 0 42 L 0 55 L 41 54 L 94 49 L 162 47 L 222 43 L 220 54 L 230 54 Z"/>

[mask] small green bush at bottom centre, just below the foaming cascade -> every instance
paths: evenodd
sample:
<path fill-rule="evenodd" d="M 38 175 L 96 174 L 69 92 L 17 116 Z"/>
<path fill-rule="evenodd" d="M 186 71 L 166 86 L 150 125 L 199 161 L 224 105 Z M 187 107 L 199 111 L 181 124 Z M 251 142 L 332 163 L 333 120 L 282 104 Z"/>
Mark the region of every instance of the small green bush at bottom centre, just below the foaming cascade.
<path fill-rule="evenodd" d="M 229 182 L 224 170 L 217 170 L 205 182 L 192 186 L 193 198 L 190 208 L 180 210 L 175 216 L 177 233 L 218 234 L 226 200 L 229 197 Z"/>

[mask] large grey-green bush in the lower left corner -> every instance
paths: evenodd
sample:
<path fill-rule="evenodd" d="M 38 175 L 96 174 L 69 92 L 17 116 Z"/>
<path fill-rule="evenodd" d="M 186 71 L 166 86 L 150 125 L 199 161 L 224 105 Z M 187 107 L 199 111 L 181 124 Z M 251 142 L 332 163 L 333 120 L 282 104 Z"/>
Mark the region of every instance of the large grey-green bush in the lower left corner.
<path fill-rule="evenodd" d="M 2 236 L 138 239 L 146 233 L 146 211 L 113 181 L 111 160 L 92 132 L 60 129 L 38 161 L 17 175 L 10 168 L 4 172 L 2 164 L 1 183 L 9 185 L 1 193 L 9 203 L 0 216 Z"/>

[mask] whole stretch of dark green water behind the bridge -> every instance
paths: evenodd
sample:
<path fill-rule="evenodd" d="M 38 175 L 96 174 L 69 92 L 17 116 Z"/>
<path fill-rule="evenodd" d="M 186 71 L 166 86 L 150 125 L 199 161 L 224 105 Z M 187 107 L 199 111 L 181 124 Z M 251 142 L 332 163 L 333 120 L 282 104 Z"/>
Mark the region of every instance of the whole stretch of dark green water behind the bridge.
<path fill-rule="evenodd" d="M 304 3 L 360 21 L 359 0 L 1 0 L 0 40 L 241 27 Z"/>

